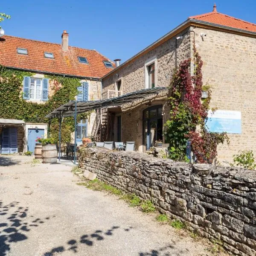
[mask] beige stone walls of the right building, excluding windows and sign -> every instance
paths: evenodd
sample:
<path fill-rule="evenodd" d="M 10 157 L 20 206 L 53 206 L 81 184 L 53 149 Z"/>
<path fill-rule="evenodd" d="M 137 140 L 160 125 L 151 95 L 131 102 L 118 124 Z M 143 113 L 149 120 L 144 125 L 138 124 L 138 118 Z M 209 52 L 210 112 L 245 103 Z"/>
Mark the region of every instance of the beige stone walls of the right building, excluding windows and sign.
<path fill-rule="evenodd" d="M 190 30 L 190 32 L 188 32 Z M 201 37 L 201 33 L 207 36 Z M 102 80 L 102 96 L 107 97 L 108 90 L 115 90 L 115 82 L 122 78 L 123 93 L 145 88 L 145 62 L 156 57 L 157 87 L 166 87 L 175 68 L 175 38 L 183 35 L 177 41 L 177 64 L 192 58 L 193 43 L 204 62 L 202 73 L 204 84 L 212 87 L 211 107 L 219 110 L 241 111 L 242 134 L 229 134 L 230 146 L 218 146 L 218 160 L 232 162 L 233 154 L 239 150 L 253 150 L 256 152 L 254 138 L 256 131 L 253 127 L 256 106 L 254 104 L 254 90 L 256 88 L 256 38 L 217 31 L 202 27 L 190 26 L 188 29 L 174 35 L 134 61 L 121 67 Z M 192 65 L 193 67 L 193 65 Z M 192 70 L 191 67 L 191 71 Z M 152 105 L 155 102 L 152 102 Z M 131 122 L 141 122 L 140 113 L 133 113 L 137 119 Z M 127 123 L 124 120 L 124 124 Z M 129 133 L 130 137 L 142 136 L 142 131 L 134 128 L 125 131 L 127 126 L 122 124 L 122 134 Z M 137 133 L 137 134 L 136 134 Z M 122 137 L 125 141 L 126 137 Z M 143 148 L 138 145 L 138 149 Z"/>

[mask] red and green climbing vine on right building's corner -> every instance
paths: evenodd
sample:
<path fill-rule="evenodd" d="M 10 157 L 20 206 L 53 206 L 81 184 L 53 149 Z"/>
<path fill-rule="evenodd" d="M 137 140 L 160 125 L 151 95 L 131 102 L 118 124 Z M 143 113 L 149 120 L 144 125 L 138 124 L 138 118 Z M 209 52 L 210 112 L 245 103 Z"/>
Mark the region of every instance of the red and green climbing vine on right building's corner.
<path fill-rule="evenodd" d="M 191 59 L 187 59 L 180 63 L 172 76 L 170 119 L 165 124 L 165 138 L 169 143 L 170 157 L 175 160 L 187 160 L 188 140 L 199 163 L 212 163 L 217 157 L 217 145 L 225 140 L 229 143 L 226 133 L 209 132 L 205 125 L 211 89 L 209 85 L 203 85 L 202 65 L 203 61 L 194 47 L 194 75 L 190 74 Z M 208 93 L 206 99 L 201 99 L 202 90 Z"/>

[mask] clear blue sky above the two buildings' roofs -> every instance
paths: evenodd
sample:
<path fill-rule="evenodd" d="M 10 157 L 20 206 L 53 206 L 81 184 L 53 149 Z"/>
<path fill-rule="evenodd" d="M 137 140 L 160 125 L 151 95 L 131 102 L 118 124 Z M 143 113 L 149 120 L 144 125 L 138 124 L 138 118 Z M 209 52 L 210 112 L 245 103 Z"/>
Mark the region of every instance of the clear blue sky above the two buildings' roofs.
<path fill-rule="evenodd" d="M 214 0 L 1 0 L 6 35 L 96 49 L 122 62 L 192 15 L 212 11 Z M 218 0 L 218 12 L 256 23 L 255 0 Z"/>

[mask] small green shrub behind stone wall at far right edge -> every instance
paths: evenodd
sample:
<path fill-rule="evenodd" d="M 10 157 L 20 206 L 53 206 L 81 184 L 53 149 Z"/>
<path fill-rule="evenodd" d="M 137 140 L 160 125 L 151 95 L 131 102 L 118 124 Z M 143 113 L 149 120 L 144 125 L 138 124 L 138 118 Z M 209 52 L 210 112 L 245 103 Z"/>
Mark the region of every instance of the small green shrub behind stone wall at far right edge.
<path fill-rule="evenodd" d="M 236 166 L 242 166 L 245 169 L 255 170 L 256 163 L 253 157 L 252 150 L 239 151 L 239 154 L 233 155 L 234 163 L 231 164 Z"/>

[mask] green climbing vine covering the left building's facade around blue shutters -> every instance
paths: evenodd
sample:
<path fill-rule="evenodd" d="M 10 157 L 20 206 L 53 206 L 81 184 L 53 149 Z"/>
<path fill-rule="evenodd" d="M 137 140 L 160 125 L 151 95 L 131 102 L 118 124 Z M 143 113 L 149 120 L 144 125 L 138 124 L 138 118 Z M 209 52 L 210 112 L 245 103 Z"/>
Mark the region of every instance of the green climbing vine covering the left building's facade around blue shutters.
<path fill-rule="evenodd" d="M 47 76 L 49 78 L 49 95 L 47 102 L 30 102 L 23 99 L 23 77 L 34 76 L 35 73 L 0 67 L 0 118 L 21 119 L 25 122 L 48 123 L 45 116 L 64 105 L 70 100 L 74 100 L 78 94 L 77 87 L 80 86 L 80 79 L 62 76 Z M 77 119 L 88 118 L 91 112 L 82 113 Z M 50 135 L 58 141 L 58 119 L 52 119 Z M 71 132 L 74 131 L 73 117 L 64 118 L 61 126 L 61 141 L 70 141 Z"/>

